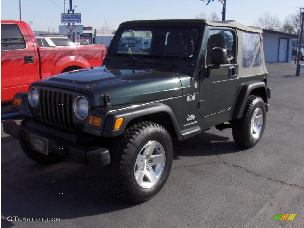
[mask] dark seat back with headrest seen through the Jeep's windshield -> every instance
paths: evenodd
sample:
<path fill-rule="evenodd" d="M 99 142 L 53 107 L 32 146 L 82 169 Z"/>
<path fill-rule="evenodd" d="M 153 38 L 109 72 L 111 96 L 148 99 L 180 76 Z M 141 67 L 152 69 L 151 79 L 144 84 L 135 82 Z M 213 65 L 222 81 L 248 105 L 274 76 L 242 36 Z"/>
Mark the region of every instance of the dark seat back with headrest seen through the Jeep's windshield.
<path fill-rule="evenodd" d="M 164 48 L 164 55 L 177 55 L 184 50 L 184 39 L 181 33 L 170 33 Z"/>

